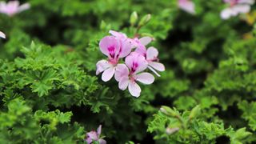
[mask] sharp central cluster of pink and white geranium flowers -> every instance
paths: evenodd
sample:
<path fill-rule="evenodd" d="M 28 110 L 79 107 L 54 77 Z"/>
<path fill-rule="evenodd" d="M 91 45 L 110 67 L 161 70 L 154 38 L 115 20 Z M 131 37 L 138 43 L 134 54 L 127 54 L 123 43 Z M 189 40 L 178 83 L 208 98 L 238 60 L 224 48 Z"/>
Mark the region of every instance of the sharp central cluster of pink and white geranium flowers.
<path fill-rule="evenodd" d="M 110 30 L 111 36 L 102 38 L 100 50 L 108 58 L 97 62 L 96 74 L 102 73 L 102 80 L 115 78 L 121 90 L 128 90 L 134 97 L 139 97 L 141 88 L 137 82 L 149 85 L 154 82 L 154 76 L 143 72 L 147 68 L 160 76 L 157 71 L 164 71 L 165 66 L 158 62 L 158 50 L 146 46 L 153 40 L 150 37 L 127 38 L 126 34 Z M 124 63 L 121 62 L 124 58 Z"/>

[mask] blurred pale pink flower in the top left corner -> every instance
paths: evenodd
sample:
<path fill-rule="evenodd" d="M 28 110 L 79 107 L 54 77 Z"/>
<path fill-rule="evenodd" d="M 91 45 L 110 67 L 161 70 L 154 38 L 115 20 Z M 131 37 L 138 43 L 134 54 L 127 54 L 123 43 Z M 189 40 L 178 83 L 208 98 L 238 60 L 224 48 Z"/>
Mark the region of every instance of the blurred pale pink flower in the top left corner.
<path fill-rule="evenodd" d="M 19 6 L 18 1 L 10 1 L 8 3 L 0 2 L 0 13 L 7 14 L 9 16 L 13 16 L 14 14 L 20 13 L 23 10 L 27 10 L 29 8 L 30 8 L 29 3 L 25 3 Z"/>

